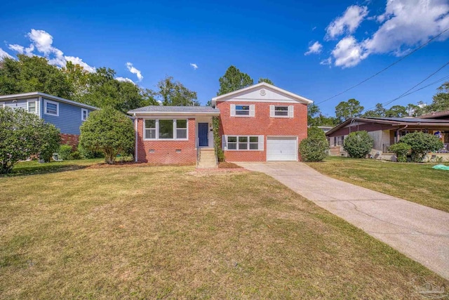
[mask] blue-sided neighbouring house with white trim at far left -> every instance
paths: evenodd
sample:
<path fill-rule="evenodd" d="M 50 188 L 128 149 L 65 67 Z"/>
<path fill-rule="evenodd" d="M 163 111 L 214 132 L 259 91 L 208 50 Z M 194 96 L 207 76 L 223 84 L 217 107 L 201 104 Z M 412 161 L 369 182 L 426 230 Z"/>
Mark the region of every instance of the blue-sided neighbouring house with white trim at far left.
<path fill-rule="evenodd" d="M 97 107 L 67 100 L 47 93 L 18 93 L 0 96 L 0 107 L 23 108 L 54 124 L 61 131 L 62 143 L 78 143 L 79 126 Z"/>

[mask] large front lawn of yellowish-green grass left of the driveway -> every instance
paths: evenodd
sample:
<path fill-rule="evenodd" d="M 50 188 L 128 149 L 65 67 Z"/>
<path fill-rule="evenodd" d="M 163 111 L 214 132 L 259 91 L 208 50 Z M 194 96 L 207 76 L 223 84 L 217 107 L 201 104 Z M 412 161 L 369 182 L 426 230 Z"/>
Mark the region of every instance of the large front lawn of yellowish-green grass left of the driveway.
<path fill-rule="evenodd" d="M 81 167 L 0 178 L 1 299 L 421 299 L 424 282 L 449 286 L 264 174 Z"/>

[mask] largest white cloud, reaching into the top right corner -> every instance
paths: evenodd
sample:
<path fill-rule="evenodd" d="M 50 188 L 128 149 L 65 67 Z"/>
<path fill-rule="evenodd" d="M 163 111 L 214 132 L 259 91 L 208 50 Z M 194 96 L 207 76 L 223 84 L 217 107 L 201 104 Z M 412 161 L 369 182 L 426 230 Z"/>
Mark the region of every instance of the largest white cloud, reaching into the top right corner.
<path fill-rule="evenodd" d="M 335 65 L 354 67 L 371 54 L 403 56 L 449 27 L 449 4 L 445 0 L 388 0 L 377 16 L 380 27 L 363 41 L 344 37 L 332 51 Z M 449 33 L 438 38 L 448 39 Z"/>

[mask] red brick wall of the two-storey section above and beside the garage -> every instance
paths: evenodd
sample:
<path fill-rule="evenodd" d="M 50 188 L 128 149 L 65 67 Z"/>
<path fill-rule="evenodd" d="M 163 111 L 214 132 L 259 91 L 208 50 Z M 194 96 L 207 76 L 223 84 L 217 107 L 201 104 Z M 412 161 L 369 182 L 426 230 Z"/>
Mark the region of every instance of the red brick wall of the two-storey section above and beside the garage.
<path fill-rule="evenodd" d="M 218 102 L 220 135 L 264 135 L 263 151 L 225 151 L 229 162 L 264 162 L 267 160 L 267 136 L 297 136 L 298 143 L 307 138 L 307 105 L 301 103 L 247 103 L 255 105 L 255 117 L 231 117 L 230 105 L 239 101 Z M 269 105 L 293 105 L 293 118 L 269 116 Z"/>

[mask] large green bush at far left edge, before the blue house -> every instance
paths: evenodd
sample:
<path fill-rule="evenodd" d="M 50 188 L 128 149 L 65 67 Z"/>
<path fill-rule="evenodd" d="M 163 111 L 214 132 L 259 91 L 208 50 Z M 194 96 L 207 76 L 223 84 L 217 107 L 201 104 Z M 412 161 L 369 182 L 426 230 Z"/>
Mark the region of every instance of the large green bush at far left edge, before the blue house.
<path fill-rule="evenodd" d="M 8 174 L 20 160 L 32 155 L 49 160 L 59 143 L 60 134 L 53 124 L 26 110 L 0 108 L 0 174 Z"/>

